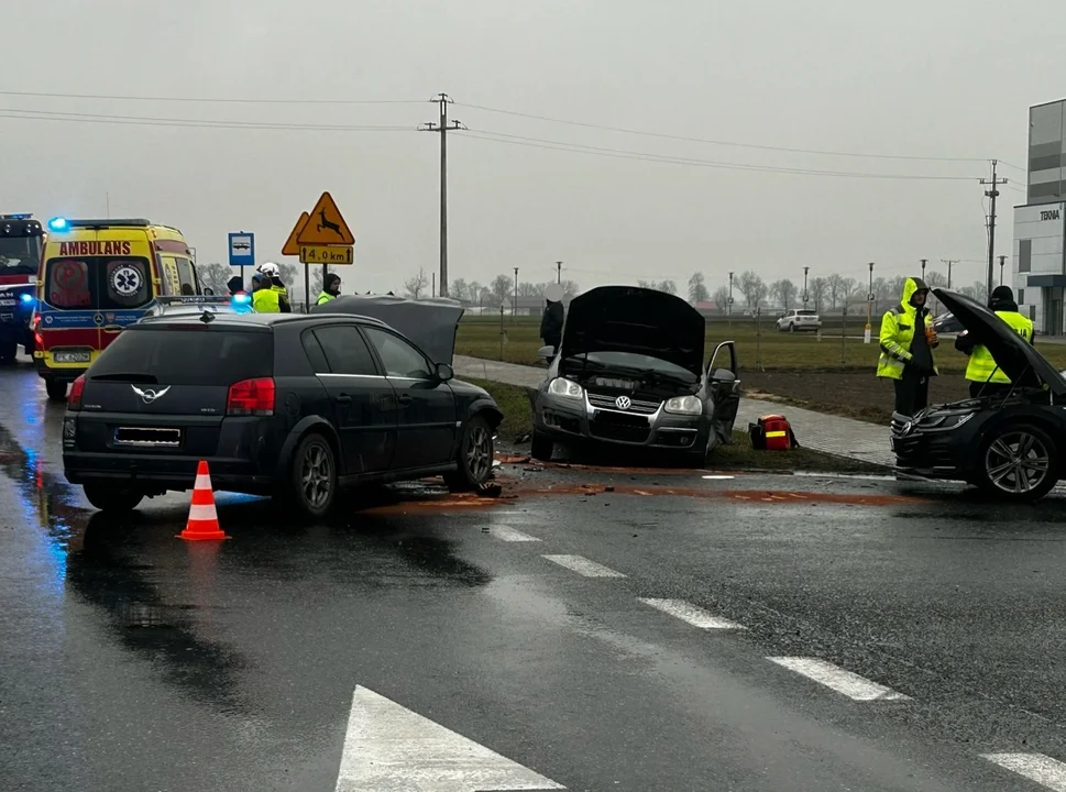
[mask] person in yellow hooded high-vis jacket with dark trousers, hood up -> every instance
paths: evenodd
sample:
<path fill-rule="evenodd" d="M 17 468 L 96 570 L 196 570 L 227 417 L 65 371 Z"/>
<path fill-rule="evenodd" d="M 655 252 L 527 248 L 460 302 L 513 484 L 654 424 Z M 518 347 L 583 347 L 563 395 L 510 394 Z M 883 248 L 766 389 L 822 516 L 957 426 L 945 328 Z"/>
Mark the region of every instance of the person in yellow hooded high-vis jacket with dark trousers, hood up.
<path fill-rule="evenodd" d="M 895 413 L 908 417 L 928 405 L 930 377 L 938 373 L 933 350 L 939 339 L 925 306 L 928 293 L 921 278 L 906 278 L 900 304 L 881 318 L 877 375 L 893 381 Z"/>

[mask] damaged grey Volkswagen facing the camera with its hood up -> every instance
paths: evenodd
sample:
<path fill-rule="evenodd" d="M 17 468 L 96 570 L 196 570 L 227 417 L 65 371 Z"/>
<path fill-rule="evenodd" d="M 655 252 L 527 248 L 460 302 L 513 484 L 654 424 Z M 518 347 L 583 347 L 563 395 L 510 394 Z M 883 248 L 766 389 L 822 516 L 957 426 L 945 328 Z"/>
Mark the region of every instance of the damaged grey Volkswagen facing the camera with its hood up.
<path fill-rule="evenodd" d="M 541 350 L 553 360 L 532 398 L 532 455 L 594 442 L 702 465 L 730 441 L 740 404 L 735 345 L 718 344 L 705 366 L 705 333 L 703 315 L 663 292 L 602 286 L 574 297 L 558 354 Z"/>

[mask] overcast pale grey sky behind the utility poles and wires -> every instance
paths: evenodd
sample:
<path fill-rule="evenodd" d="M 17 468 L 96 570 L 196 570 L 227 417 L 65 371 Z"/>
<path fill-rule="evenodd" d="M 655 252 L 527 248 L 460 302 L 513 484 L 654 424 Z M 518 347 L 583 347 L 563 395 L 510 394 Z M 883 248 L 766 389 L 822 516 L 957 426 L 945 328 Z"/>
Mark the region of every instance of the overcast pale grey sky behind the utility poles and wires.
<path fill-rule="evenodd" d="M 102 216 L 110 194 L 112 217 L 177 226 L 200 261 L 235 230 L 266 260 L 328 189 L 356 235 L 345 292 L 438 266 L 438 136 L 410 131 L 438 91 L 471 131 L 449 135 L 451 278 L 541 282 L 563 260 L 582 287 L 682 292 L 694 271 L 713 292 L 729 270 L 865 278 L 922 257 L 981 277 L 980 161 L 1024 166 L 1026 108 L 1066 96 L 1060 0 L 0 0 L 0 19 L 4 91 L 391 102 L 0 96 L 0 211 Z M 997 254 L 1023 200 L 1003 189 Z"/>

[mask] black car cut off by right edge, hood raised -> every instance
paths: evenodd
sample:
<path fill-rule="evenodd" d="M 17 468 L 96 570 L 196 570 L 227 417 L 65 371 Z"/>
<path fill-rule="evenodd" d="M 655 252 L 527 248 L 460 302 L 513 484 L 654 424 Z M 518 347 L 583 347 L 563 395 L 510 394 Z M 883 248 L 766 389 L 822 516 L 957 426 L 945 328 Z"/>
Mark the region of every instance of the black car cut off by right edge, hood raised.
<path fill-rule="evenodd" d="M 933 294 L 988 349 L 1012 387 L 912 418 L 893 416 L 899 469 L 965 481 L 1012 501 L 1043 497 L 1063 476 L 1066 461 L 1066 378 L 985 306 L 954 292 Z"/>

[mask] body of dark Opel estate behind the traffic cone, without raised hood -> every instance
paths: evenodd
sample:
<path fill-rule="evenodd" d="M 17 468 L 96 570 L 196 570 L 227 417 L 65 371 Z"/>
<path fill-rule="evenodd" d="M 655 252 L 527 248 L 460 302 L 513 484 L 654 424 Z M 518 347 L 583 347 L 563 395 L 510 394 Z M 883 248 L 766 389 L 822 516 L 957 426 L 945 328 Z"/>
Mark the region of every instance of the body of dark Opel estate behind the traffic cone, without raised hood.
<path fill-rule="evenodd" d="M 482 484 L 502 418 L 380 320 L 205 310 L 131 326 L 78 377 L 63 466 L 102 510 L 189 490 L 206 460 L 219 490 L 320 516 L 355 483 Z"/>

